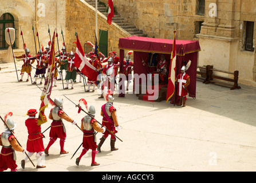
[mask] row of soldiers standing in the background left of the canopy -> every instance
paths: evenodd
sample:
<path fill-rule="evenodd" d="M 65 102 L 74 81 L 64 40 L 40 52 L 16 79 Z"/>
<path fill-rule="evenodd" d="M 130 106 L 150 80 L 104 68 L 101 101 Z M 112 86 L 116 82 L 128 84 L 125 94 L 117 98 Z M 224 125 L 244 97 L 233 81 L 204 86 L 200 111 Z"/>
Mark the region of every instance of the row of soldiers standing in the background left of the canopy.
<path fill-rule="evenodd" d="M 88 41 L 89 42 L 89 41 Z M 116 51 L 111 51 L 109 52 L 109 57 L 105 57 L 103 53 L 99 53 L 99 56 L 96 55 L 95 53 L 95 46 L 89 42 L 88 44 L 92 45 L 92 51 L 89 53 L 85 54 L 86 57 L 89 57 L 89 62 L 91 65 L 93 65 L 97 71 L 99 71 L 99 74 L 105 75 L 104 78 L 90 78 L 88 77 L 88 87 L 85 90 L 85 92 L 90 91 L 90 86 L 93 85 L 92 92 L 95 91 L 95 86 L 97 85 L 97 82 L 102 82 L 101 83 L 101 89 L 102 93 L 105 88 L 111 89 L 112 92 L 115 90 L 115 84 L 116 84 L 116 76 L 118 73 L 118 69 L 120 66 L 120 58 L 117 57 Z M 127 54 L 127 58 L 123 62 L 123 65 L 125 67 L 124 69 L 124 74 L 127 76 L 127 90 L 129 83 L 131 81 L 128 80 L 128 74 L 132 73 L 132 67 L 133 67 L 133 62 L 131 62 L 131 58 L 129 56 L 130 54 Z M 82 82 L 81 79 L 85 79 L 85 75 L 82 74 L 80 70 L 74 65 L 74 57 L 75 54 L 73 51 L 67 52 L 65 46 L 62 47 L 60 52 L 56 52 L 54 54 L 56 57 L 56 69 L 54 73 L 54 86 L 56 85 L 57 80 L 65 80 L 66 81 L 66 87 L 64 89 L 69 89 L 69 82 L 71 81 L 71 89 L 74 89 L 73 85 L 74 82 L 76 82 L 76 77 L 77 75 L 80 75 L 80 80 L 79 82 Z M 23 65 L 21 69 L 21 79 L 18 81 L 21 82 L 23 81 L 23 76 L 25 72 L 27 73 L 27 79 L 26 82 L 29 81 L 29 78 L 31 79 L 32 84 L 40 84 L 42 85 L 42 80 L 45 78 L 45 73 L 46 69 L 48 67 L 48 62 L 49 62 L 49 57 L 50 57 L 50 42 L 46 46 L 46 50 L 43 51 L 43 48 L 40 49 L 35 57 L 30 55 L 29 49 L 26 47 L 25 49 L 25 54 L 14 56 L 14 58 L 22 58 L 23 60 Z M 37 61 L 36 68 L 32 66 L 32 64 Z M 108 62 L 107 65 L 103 66 L 103 63 Z M 36 73 L 34 75 L 34 82 L 32 81 L 31 78 L 31 70 L 32 68 L 36 69 Z M 59 68 L 59 69 L 58 69 Z M 63 77 L 63 74 L 65 73 L 65 78 Z M 59 77 L 58 77 L 59 75 Z M 38 78 L 41 77 L 40 82 L 37 82 Z M 58 77 L 58 78 L 57 78 Z M 108 78 L 107 78 L 108 77 Z M 101 81 L 101 79 L 103 81 Z M 104 82 L 108 80 L 108 82 Z M 86 80 L 85 80 L 86 81 Z M 113 82 L 113 86 L 110 86 L 111 83 Z M 105 86 L 104 86 L 105 83 Z M 63 86 L 64 87 L 64 86 Z M 103 94 L 99 97 L 103 98 Z"/>

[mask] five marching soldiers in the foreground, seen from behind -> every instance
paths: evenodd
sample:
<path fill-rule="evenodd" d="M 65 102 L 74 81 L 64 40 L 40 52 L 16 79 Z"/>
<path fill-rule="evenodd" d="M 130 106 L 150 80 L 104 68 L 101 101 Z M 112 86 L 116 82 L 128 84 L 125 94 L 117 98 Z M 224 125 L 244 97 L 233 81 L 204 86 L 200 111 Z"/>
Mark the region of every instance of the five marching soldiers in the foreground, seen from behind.
<path fill-rule="evenodd" d="M 81 128 L 77 125 L 76 120 L 69 117 L 64 112 L 63 99 L 60 100 L 60 98 L 54 98 L 54 101 L 52 101 L 52 105 L 54 107 L 50 110 L 49 113 L 49 119 L 52 120 L 52 123 L 49 127 L 50 141 L 48 142 L 46 148 L 43 142 L 43 138 L 45 137 L 44 132 L 41 132 L 41 125 L 44 124 L 44 122 L 41 122 L 42 120 L 39 117 L 36 118 L 36 109 L 30 109 L 26 113 L 26 115 L 29 116 L 25 121 L 25 126 L 28 133 L 26 149 L 19 144 L 17 138 L 15 138 L 14 136 L 14 129 L 16 128 L 16 123 L 11 119 L 12 113 L 11 115 L 6 114 L 4 120 L 1 117 L 2 121 L 5 123 L 6 130 L 5 132 L 0 134 L 0 145 L 2 146 L 0 154 L 0 172 L 3 172 L 7 169 L 11 169 L 11 172 L 17 171 L 17 157 L 15 156 L 15 151 L 23 152 L 26 154 L 26 156 L 21 161 L 22 169 L 25 169 L 25 164 L 27 160 L 30 160 L 30 157 L 33 156 L 34 153 L 36 153 L 37 159 L 36 168 L 45 168 L 46 166 L 42 165 L 41 161 L 42 154 L 45 153 L 46 156 L 50 156 L 50 146 L 52 146 L 54 142 L 56 142 L 57 138 L 60 139 L 60 154 L 69 153 L 64 149 L 64 144 L 66 140 L 66 128 L 63 120 L 71 122 L 72 125 L 76 125 L 83 134 L 81 144 L 83 149 L 80 156 L 76 158 L 76 165 L 79 166 L 82 156 L 84 156 L 89 149 L 92 150 L 91 166 L 100 165 L 95 161 L 96 154 L 98 152 L 101 152 L 101 146 L 109 135 L 111 135 L 111 151 L 118 150 L 115 147 L 116 138 L 118 138 L 115 134 L 117 133 L 117 130 L 121 129 L 117 121 L 116 108 L 113 106 L 115 98 L 113 98 L 113 95 L 110 92 L 105 93 L 104 98 L 107 102 L 103 106 L 101 106 L 101 116 L 103 117 L 102 124 L 94 118 L 96 114 L 96 109 L 93 105 L 90 105 L 88 108 L 88 106 L 86 105 L 86 101 L 84 99 L 80 100 L 84 101 L 88 112 L 85 112 L 85 110 L 82 109 L 80 105 L 76 105 L 79 108 L 78 113 L 83 110 L 87 114 L 84 118 L 81 119 Z M 47 120 L 45 114 L 44 119 Z M 103 136 L 100 138 L 99 144 L 96 144 L 96 132 L 103 133 Z M 33 164 L 32 161 L 31 163 Z"/>

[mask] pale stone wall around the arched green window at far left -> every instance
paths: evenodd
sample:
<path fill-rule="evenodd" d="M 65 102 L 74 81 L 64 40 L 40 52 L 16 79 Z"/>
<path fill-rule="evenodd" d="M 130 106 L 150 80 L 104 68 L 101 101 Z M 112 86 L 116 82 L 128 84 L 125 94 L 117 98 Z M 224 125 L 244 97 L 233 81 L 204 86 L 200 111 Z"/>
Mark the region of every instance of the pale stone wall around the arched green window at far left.
<path fill-rule="evenodd" d="M 24 53 L 22 49 L 23 41 L 21 37 L 21 30 L 23 33 L 24 42 L 29 48 L 30 54 L 36 54 L 32 25 L 34 26 L 35 34 L 37 28 L 40 45 L 43 45 L 44 47 L 46 47 L 48 42 L 50 41 L 48 25 L 50 28 L 51 37 L 53 36 L 54 29 L 57 29 L 59 33 L 61 32 L 61 26 L 64 27 L 65 35 L 65 0 L 0 1 L 0 7 L 0 16 L 3 13 L 10 13 L 11 15 L 13 15 L 15 20 L 15 55 L 20 55 Z M 39 44 L 37 37 L 36 46 L 38 51 Z M 7 50 L 0 50 L 0 61 L 2 61 L 2 59 L 5 57 L 6 52 Z"/>

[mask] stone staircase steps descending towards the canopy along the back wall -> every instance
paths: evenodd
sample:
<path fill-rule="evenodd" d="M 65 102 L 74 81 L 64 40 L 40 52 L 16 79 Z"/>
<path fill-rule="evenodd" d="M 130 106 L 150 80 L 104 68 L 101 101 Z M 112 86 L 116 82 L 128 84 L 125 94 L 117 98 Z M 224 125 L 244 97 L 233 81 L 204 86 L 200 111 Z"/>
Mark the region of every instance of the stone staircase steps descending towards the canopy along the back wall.
<path fill-rule="evenodd" d="M 95 7 L 95 0 L 85 0 L 89 5 Z M 98 2 L 97 6 L 98 11 L 108 17 L 108 7 Z M 121 17 L 121 15 L 115 14 L 112 18 L 112 22 L 115 22 L 121 28 L 126 30 L 131 35 L 137 35 L 140 37 L 148 37 L 147 34 L 144 34 L 142 30 L 137 29 L 136 26 L 132 25 L 132 23 L 125 20 L 125 18 Z"/>

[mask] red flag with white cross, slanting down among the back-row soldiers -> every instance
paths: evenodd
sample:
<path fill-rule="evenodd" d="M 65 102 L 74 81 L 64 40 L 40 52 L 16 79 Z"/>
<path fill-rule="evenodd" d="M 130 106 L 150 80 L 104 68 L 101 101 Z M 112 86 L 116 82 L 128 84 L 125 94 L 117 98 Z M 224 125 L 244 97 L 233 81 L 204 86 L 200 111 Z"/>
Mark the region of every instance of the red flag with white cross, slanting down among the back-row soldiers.
<path fill-rule="evenodd" d="M 77 69 L 79 69 L 86 77 L 97 79 L 97 69 L 92 64 L 90 64 L 86 58 L 84 50 L 82 49 L 81 43 L 78 39 L 78 35 L 76 42 L 76 55 L 74 57 L 74 66 L 76 66 Z M 96 81 L 96 79 L 94 81 Z"/>

